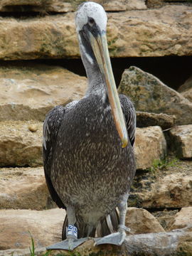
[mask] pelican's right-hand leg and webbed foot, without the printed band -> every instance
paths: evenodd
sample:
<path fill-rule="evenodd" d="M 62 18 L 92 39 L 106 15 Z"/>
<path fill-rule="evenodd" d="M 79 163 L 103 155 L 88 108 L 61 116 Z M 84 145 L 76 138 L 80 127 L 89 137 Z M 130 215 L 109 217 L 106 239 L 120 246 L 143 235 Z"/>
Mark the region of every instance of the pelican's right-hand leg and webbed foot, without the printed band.
<path fill-rule="evenodd" d="M 121 196 L 120 201 L 117 205 L 119 209 L 119 225 L 117 233 L 112 233 L 110 235 L 106 235 L 103 238 L 96 238 L 95 244 L 96 245 L 102 245 L 102 244 L 112 244 L 112 245 L 122 245 L 124 242 L 124 239 L 126 237 L 126 231 L 129 232 L 129 228 L 125 226 L 125 217 L 127 213 L 127 199 L 129 197 L 129 194 L 124 194 Z"/>

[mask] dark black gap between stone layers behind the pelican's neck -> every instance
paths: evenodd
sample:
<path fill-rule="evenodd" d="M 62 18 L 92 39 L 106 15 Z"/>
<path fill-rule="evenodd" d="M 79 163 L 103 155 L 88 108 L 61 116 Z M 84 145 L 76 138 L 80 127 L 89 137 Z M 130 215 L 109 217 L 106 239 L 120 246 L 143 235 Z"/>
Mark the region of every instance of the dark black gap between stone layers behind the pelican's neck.
<path fill-rule="evenodd" d="M 178 90 L 178 87 L 183 85 L 192 73 L 192 56 L 111 58 L 111 61 L 117 86 L 122 78 L 124 69 L 132 65 L 155 75 L 174 90 Z M 59 65 L 75 74 L 86 76 L 85 68 L 80 58 L 0 61 L 0 65 L 27 65 L 27 63 Z"/>

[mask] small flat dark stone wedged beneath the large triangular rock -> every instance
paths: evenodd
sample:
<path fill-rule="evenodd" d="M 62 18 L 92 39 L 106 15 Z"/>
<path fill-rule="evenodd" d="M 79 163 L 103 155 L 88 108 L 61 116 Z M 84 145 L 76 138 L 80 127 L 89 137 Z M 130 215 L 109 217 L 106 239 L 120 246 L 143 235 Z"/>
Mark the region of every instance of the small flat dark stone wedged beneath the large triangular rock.
<path fill-rule="evenodd" d="M 161 129 L 169 129 L 174 126 L 175 119 L 169 114 L 137 111 L 137 127 L 160 126 Z"/>

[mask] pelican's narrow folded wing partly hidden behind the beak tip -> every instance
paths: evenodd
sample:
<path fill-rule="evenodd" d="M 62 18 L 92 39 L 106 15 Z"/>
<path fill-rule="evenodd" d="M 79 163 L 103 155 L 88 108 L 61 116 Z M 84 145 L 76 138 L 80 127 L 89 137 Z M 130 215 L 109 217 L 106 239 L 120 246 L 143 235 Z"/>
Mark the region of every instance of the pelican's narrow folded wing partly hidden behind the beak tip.
<path fill-rule="evenodd" d="M 119 95 L 119 100 L 122 105 L 122 111 L 125 117 L 127 133 L 132 146 L 134 146 L 135 130 L 136 130 L 136 112 L 134 105 L 125 95 Z"/>

